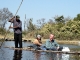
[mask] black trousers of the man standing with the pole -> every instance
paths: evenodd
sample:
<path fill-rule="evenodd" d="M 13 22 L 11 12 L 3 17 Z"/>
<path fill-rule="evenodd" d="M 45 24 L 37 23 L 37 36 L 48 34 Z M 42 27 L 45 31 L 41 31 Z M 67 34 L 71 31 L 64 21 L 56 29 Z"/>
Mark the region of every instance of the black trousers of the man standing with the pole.
<path fill-rule="evenodd" d="M 18 47 L 22 48 L 22 33 L 21 34 L 14 33 L 14 41 L 15 41 L 15 48 Z"/>

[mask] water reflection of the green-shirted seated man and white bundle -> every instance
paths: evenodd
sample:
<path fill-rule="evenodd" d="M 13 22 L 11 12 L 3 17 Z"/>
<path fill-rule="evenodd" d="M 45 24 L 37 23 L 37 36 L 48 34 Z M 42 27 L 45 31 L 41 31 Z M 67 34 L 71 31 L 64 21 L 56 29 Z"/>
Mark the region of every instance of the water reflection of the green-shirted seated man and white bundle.
<path fill-rule="evenodd" d="M 62 53 L 47 53 L 49 60 L 69 60 L 69 54 Z"/>

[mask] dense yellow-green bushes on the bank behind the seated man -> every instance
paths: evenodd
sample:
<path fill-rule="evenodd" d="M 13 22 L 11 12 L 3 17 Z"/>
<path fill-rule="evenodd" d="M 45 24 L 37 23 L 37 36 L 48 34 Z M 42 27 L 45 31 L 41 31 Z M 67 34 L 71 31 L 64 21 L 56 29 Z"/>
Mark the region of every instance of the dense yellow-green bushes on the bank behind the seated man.
<path fill-rule="evenodd" d="M 78 14 L 79 15 L 79 14 Z M 49 34 L 55 35 L 55 38 L 61 40 L 73 40 L 80 39 L 80 21 L 68 19 L 67 21 L 64 16 L 56 17 L 55 22 L 52 19 L 48 23 L 45 23 L 39 32 L 43 34 L 44 38 L 49 38 Z"/>

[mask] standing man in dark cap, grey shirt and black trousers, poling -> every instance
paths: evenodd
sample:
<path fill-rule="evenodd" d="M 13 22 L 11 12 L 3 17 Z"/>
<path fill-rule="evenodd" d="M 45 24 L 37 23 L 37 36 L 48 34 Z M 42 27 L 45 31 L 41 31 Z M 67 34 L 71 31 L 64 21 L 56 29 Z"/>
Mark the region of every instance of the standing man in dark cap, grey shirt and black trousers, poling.
<path fill-rule="evenodd" d="M 14 30 L 15 48 L 22 48 L 22 21 L 17 15 L 11 18 L 9 22 L 13 23 L 13 26 L 10 26 L 9 28 Z"/>

